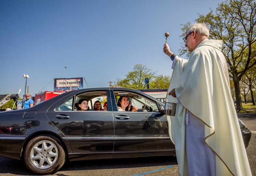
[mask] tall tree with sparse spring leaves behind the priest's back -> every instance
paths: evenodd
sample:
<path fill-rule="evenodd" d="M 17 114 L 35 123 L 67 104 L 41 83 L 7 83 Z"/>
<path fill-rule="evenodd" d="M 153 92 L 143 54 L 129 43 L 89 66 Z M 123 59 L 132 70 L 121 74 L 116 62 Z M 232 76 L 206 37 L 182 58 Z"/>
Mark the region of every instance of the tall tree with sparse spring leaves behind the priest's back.
<path fill-rule="evenodd" d="M 256 3 L 255 0 L 230 0 L 218 5 L 195 20 L 209 26 L 210 39 L 223 40 L 222 52 L 234 81 L 236 103 L 242 108 L 239 81 L 248 69 L 256 64 Z M 185 29 L 189 23 L 184 24 Z M 187 29 L 187 28 L 186 28 Z M 184 48 L 180 51 L 186 54 Z"/>

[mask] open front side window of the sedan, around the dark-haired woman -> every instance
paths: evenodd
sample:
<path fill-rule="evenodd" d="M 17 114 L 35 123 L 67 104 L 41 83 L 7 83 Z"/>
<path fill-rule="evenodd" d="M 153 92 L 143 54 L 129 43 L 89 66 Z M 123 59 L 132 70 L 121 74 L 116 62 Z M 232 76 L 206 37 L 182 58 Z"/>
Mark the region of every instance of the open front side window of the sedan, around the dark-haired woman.
<path fill-rule="evenodd" d="M 125 92 L 125 91 L 114 91 L 115 95 L 115 100 L 116 100 L 116 105 L 118 103 L 118 99 L 121 95 L 127 95 L 129 102 L 131 106 L 137 106 L 138 111 L 143 111 L 143 112 L 159 112 L 158 106 L 156 102 L 153 100 L 144 97 L 139 94 L 131 93 L 131 92 Z M 145 109 L 143 110 L 143 106 L 145 105 Z"/>

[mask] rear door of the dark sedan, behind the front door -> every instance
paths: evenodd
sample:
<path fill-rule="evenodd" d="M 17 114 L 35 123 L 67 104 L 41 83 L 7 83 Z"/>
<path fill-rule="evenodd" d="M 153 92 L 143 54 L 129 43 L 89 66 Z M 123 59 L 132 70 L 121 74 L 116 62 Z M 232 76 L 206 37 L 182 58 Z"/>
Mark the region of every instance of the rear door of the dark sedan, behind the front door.
<path fill-rule="evenodd" d="M 47 116 L 67 138 L 72 154 L 113 153 L 114 125 L 112 106 L 108 111 L 76 110 L 77 96 L 96 96 L 99 91 L 79 92 L 57 101 L 47 110 Z M 109 90 L 106 93 L 110 102 Z M 108 94 L 108 95 L 107 95 Z"/>

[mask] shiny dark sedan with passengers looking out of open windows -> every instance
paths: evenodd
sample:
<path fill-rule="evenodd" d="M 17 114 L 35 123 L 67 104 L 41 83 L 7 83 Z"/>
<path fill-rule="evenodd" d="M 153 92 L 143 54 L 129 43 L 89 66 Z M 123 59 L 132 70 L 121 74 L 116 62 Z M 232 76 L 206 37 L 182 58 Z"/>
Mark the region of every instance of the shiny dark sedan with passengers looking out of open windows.
<path fill-rule="evenodd" d="M 118 111 L 121 95 L 138 110 Z M 81 99 L 89 110 L 78 110 Z M 107 102 L 107 110 L 93 110 L 96 101 Z M 247 147 L 249 130 L 240 127 Z M 0 148 L 1 156 L 24 160 L 36 174 L 56 172 L 67 160 L 175 155 L 164 103 L 124 88 L 74 90 L 32 108 L 0 112 Z"/>

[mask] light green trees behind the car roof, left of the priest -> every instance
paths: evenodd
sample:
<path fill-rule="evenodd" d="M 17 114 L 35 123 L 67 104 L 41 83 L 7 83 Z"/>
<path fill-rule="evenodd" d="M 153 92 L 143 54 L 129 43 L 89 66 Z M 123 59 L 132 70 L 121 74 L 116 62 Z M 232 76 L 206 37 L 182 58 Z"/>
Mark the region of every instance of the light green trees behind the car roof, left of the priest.
<path fill-rule="evenodd" d="M 156 75 L 156 71 L 149 69 L 142 64 L 136 64 L 132 71 L 129 71 L 126 78 L 117 78 L 113 87 L 123 87 L 130 89 L 146 89 L 145 78 L 149 79 L 150 89 L 168 88 L 171 80 L 170 76 Z"/>

